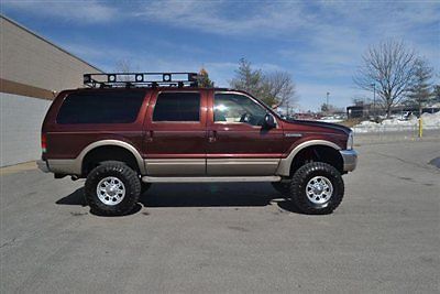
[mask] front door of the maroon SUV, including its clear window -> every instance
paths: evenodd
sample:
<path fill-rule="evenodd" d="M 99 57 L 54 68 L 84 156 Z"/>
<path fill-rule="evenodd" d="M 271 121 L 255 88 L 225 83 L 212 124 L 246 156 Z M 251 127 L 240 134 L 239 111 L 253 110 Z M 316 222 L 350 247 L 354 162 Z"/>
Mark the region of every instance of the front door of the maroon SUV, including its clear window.
<path fill-rule="evenodd" d="M 210 96 L 207 174 L 274 175 L 284 145 L 279 123 L 273 129 L 263 128 L 267 109 L 242 92 L 216 91 Z"/>

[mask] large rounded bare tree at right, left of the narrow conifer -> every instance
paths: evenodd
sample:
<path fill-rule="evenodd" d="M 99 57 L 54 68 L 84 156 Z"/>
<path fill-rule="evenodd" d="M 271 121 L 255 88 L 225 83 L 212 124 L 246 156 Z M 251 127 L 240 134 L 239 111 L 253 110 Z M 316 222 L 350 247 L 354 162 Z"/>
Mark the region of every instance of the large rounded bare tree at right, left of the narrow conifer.
<path fill-rule="evenodd" d="M 389 118 L 392 107 L 408 92 L 416 70 L 416 54 L 403 42 L 386 41 L 371 46 L 362 56 L 363 65 L 354 76 L 362 89 L 375 90 Z"/>

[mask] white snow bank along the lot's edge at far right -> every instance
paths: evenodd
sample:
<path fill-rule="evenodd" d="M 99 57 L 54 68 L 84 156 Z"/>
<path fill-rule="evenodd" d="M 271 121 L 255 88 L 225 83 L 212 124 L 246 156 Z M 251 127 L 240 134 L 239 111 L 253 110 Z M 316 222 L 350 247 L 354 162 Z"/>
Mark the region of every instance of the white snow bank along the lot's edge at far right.
<path fill-rule="evenodd" d="M 440 112 L 421 115 L 424 130 L 440 129 Z M 409 120 L 385 119 L 381 123 L 362 121 L 353 127 L 355 133 L 413 131 L 418 129 L 418 119 Z"/>

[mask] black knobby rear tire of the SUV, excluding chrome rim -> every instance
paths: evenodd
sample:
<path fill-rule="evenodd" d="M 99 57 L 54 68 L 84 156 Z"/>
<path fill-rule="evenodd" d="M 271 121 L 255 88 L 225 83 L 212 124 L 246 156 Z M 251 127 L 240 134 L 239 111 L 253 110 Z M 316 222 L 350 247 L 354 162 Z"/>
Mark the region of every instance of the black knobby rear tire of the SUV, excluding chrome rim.
<path fill-rule="evenodd" d="M 99 182 L 106 177 L 117 177 L 125 188 L 125 195 L 117 205 L 102 203 L 97 195 Z M 132 168 L 117 161 L 106 161 L 95 167 L 87 176 L 85 184 L 87 204 L 94 214 L 102 216 L 122 216 L 133 210 L 141 195 L 141 181 Z"/>

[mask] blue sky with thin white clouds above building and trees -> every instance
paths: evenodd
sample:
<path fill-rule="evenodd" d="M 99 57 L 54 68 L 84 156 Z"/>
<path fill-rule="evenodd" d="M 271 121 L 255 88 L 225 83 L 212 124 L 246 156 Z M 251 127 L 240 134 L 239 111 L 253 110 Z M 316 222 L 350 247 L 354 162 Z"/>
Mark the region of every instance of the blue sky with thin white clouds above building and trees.
<path fill-rule="evenodd" d="M 301 110 L 330 92 L 370 97 L 352 76 L 369 45 L 404 40 L 440 79 L 440 1 L 9 1 L 1 13 L 103 70 L 198 72 L 228 86 L 238 61 L 292 74 Z"/>

